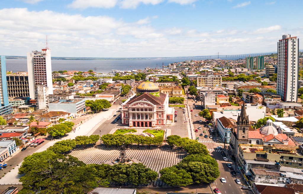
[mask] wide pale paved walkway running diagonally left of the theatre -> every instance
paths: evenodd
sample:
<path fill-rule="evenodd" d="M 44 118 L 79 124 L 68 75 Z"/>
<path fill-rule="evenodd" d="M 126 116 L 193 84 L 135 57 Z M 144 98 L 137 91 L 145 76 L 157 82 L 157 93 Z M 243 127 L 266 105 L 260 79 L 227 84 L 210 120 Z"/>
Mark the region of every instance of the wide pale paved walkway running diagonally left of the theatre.
<path fill-rule="evenodd" d="M 35 151 L 35 153 L 47 150 L 48 147 L 54 145 L 58 141 L 62 141 L 66 139 L 74 139 L 76 136 L 80 136 L 80 135 L 88 135 L 88 136 L 91 135 L 98 128 L 98 126 L 100 126 L 105 120 L 110 119 L 118 109 L 119 107 L 115 107 L 107 111 L 102 111 L 101 113 L 96 114 L 92 118 L 85 119 L 85 122 L 83 122 L 82 124 L 80 123 L 78 124 L 75 132 L 70 132 L 66 134 L 65 137 L 48 142 L 47 144 L 43 145 L 40 149 Z M 18 155 L 14 154 L 12 158 L 14 157 L 18 157 Z M 22 162 L 18 164 L 19 167 L 21 166 L 21 164 Z M 12 169 L 11 172 L 5 174 L 4 177 L 1 177 L 0 185 L 20 184 L 19 179 L 20 177 L 22 177 L 22 175 L 18 174 L 18 166 L 15 166 L 14 168 L 15 169 Z"/>

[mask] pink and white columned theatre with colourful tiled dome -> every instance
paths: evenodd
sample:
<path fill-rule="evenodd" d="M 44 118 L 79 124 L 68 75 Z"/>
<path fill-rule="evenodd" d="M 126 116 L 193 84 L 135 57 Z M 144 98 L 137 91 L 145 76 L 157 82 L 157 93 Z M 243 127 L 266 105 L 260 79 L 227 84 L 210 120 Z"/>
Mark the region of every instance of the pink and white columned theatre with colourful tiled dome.
<path fill-rule="evenodd" d="M 168 107 L 168 94 L 150 81 L 142 82 L 136 88 L 136 96 L 122 104 L 123 125 L 130 127 L 155 127 L 173 119 L 173 108 Z"/>

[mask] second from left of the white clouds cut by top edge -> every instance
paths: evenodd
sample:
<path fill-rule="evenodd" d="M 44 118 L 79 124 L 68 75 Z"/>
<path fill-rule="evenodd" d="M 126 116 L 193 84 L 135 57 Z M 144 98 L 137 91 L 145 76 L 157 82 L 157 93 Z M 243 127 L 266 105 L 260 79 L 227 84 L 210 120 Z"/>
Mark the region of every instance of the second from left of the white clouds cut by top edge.
<path fill-rule="evenodd" d="M 112 8 L 117 4 L 117 0 L 74 0 L 68 7 L 85 9 L 88 7 L 95 8 Z"/>

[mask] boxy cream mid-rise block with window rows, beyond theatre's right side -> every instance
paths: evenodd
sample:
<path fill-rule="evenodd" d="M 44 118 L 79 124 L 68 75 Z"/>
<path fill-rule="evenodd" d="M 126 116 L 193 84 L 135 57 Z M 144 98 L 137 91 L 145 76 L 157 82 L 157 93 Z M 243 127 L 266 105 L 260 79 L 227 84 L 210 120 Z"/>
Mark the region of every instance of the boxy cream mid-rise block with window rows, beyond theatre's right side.
<path fill-rule="evenodd" d="M 204 74 L 197 76 L 197 87 L 221 86 L 222 76 L 214 74 Z"/>

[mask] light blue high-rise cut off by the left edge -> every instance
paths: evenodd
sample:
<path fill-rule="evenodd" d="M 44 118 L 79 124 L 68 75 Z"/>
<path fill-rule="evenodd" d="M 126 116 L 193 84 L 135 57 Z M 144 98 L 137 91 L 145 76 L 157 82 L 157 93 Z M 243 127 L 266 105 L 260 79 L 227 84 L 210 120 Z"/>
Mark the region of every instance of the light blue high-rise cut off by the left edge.
<path fill-rule="evenodd" d="M 6 82 L 6 64 L 5 56 L 0 56 L 0 68 L 1 68 L 1 85 L 0 85 L 0 115 L 6 115 L 12 113 L 12 107 L 8 103 L 8 91 Z"/>

